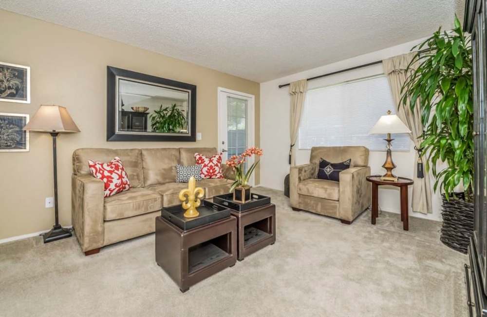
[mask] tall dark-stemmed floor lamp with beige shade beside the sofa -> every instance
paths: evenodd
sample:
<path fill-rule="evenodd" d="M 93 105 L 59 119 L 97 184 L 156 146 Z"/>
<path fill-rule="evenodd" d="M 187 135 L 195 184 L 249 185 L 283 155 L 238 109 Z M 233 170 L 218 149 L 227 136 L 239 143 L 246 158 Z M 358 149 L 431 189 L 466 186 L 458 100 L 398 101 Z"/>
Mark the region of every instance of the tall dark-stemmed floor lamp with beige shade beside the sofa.
<path fill-rule="evenodd" d="M 56 105 L 41 105 L 34 117 L 23 128 L 25 131 L 47 132 L 53 137 L 53 162 L 54 162 L 54 212 L 56 223 L 51 231 L 43 234 L 44 243 L 71 237 L 71 230 L 63 228 L 59 224 L 57 209 L 57 164 L 56 164 L 56 137 L 59 133 L 79 132 L 68 110 Z"/>

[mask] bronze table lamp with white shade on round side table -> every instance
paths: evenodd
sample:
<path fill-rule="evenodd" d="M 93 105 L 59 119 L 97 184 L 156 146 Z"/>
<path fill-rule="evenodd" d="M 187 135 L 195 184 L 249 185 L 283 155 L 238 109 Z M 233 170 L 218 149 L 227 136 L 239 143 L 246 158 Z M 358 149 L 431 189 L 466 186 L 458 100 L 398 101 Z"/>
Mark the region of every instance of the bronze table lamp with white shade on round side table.
<path fill-rule="evenodd" d="M 393 175 L 393 169 L 396 165 L 393 162 L 393 157 L 391 154 L 391 133 L 411 133 L 411 130 L 404 124 L 399 117 L 391 114 L 391 110 L 387 111 L 387 115 L 381 116 L 380 119 L 375 123 L 369 134 L 387 134 L 387 155 L 386 161 L 382 165 L 386 169 L 386 174 L 384 174 L 380 179 L 397 181 L 397 177 Z"/>

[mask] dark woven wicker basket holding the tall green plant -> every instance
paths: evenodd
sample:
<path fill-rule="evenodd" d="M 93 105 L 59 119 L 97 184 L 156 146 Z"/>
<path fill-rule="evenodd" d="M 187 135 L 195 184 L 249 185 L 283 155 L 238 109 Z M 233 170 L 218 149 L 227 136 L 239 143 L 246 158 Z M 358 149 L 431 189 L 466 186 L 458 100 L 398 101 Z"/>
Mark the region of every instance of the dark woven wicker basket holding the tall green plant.
<path fill-rule="evenodd" d="M 443 224 L 440 240 L 453 250 L 467 253 L 470 237 L 473 234 L 473 202 L 465 201 L 464 193 L 455 193 L 450 201 L 441 195 Z"/>

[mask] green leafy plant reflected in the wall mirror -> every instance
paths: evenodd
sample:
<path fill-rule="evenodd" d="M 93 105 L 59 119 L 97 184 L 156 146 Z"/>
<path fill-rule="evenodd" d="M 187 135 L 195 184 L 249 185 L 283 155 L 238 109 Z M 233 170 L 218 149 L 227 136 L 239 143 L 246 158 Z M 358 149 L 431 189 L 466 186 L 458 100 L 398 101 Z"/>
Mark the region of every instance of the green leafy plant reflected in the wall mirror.
<path fill-rule="evenodd" d="M 161 133 L 177 133 L 186 126 L 186 116 L 184 110 L 178 108 L 178 105 L 173 103 L 171 106 L 154 110 L 150 114 L 150 126 L 152 131 Z"/>

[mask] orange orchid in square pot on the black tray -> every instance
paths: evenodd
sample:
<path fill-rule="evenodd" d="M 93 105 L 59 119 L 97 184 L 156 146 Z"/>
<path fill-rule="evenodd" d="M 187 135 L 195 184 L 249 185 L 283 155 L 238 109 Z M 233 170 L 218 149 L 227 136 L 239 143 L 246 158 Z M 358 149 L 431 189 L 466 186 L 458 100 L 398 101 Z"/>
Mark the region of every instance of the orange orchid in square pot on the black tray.
<path fill-rule="evenodd" d="M 232 167 L 235 171 L 235 181 L 230 187 L 230 192 L 233 191 L 233 200 L 242 203 L 250 200 L 250 186 L 248 182 L 255 167 L 259 164 L 259 161 L 256 161 L 245 171 L 245 162 L 252 156 L 261 157 L 262 149 L 253 146 L 246 149 L 241 155 L 234 155 L 226 161 L 226 165 Z"/>

